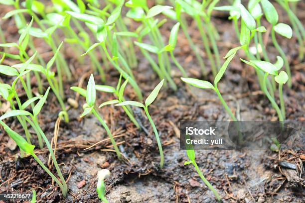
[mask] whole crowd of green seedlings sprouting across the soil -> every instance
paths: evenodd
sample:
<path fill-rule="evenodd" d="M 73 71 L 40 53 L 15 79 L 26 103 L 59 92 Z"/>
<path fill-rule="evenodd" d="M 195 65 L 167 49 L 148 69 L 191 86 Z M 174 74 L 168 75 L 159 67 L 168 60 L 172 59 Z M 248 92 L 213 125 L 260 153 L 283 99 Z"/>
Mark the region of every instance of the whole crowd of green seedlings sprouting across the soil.
<path fill-rule="evenodd" d="M 130 105 L 133 105 L 143 107 L 144 112 L 152 125 L 160 153 L 159 167 L 163 167 L 164 156 L 162 143 L 148 107 L 156 99 L 163 85 L 165 87 L 168 86 L 173 91 L 177 90 L 177 85 L 171 76 L 172 64 L 181 72 L 181 75 L 183 76 L 181 80 L 183 82 L 197 88 L 214 90 L 231 119 L 237 121 L 238 119 L 223 99 L 217 85 L 237 52 L 239 50 L 244 50 L 247 60 L 241 60 L 255 68 L 257 81 L 261 90 L 275 108 L 279 120 L 284 121 L 285 103 L 283 99 L 283 84 L 288 83 L 288 86 L 291 87 L 291 71 L 285 53 L 277 41 L 276 34 L 291 38 L 293 34 L 292 28 L 288 24 L 278 22 L 279 16 L 277 10 L 269 0 L 249 0 L 247 8 L 241 4 L 241 0 L 229 0 L 228 2 L 230 5 L 217 7 L 216 4 L 218 1 L 219 0 L 202 0 L 202 2 L 196 0 L 170 0 L 173 7 L 168 5 L 155 5 L 149 8 L 146 0 L 129 0 L 126 2 L 125 0 L 106 0 L 104 7 L 101 7 L 98 0 L 86 0 L 86 2 L 83 0 L 76 0 L 76 3 L 72 0 L 54 0 L 52 1 L 52 5 L 48 6 L 45 6 L 38 0 L 25 0 L 23 2 L 19 2 L 19 0 L 0 0 L 0 3 L 2 4 L 14 6 L 14 9 L 6 13 L 3 19 L 14 18 L 15 25 L 20 34 L 18 42 L 6 42 L 5 38 L 3 38 L 2 30 L 0 30 L 2 41 L 0 47 L 2 47 L 3 50 L 0 52 L 2 55 L 0 64 L 3 62 L 4 58 L 19 61 L 19 63 L 12 66 L 0 65 L 1 74 L 14 78 L 11 84 L 6 84 L 2 81 L 0 83 L 0 95 L 3 100 L 10 103 L 12 109 L 0 116 L 0 124 L 20 148 L 20 156 L 23 157 L 25 154 L 31 155 L 58 184 L 63 197 L 67 196 L 67 184 L 56 162 L 53 149 L 38 122 L 39 113 L 50 90 L 54 93 L 61 106 L 62 111 L 59 112 L 59 117 L 64 118 L 66 122 L 69 122 L 69 116 L 64 103 L 65 96 L 63 83 L 64 81 L 70 81 L 72 79 L 72 74 L 63 54 L 60 52 L 63 42 L 59 41 L 57 29 L 60 29 L 64 34 L 65 43 L 69 43 L 77 52 L 79 50 L 79 55 L 89 56 L 90 61 L 92 62 L 92 69 L 94 73 L 99 74 L 101 83 L 106 83 L 105 69 L 108 70 L 110 67 L 113 67 L 121 74 L 116 88 L 107 85 L 96 85 L 93 74 L 91 74 L 89 78 L 87 89 L 71 87 L 71 90 L 86 98 L 86 103 L 83 105 L 84 112 L 81 114 L 81 117 L 91 113 L 99 120 L 105 128 L 118 158 L 121 158 L 121 152 L 109 127 L 99 113 L 99 108 L 110 104 L 121 106 L 130 120 L 140 130 L 140 124 L 137 122 L 133 109 L 130 107 Z M 300 59 L 303 59 L 305 32 L 302 23 L 292 11 L 289 3 L 289 1 L 295 0 L 277 1 L 288 13 L 300 44 L 299 57 Z M 122 14 L 123 6 L 124 9 L 127 10 L 126 16 L 123 16 Z M 240 41 L 239 47 L 231 49 L 226 56 L 223 57 L 223 59 L 225 59 L 223 65 L 221 65 L 222 59 L 220 58 L 216 43 L 216 41 L 219 40 L 219 34 L 211 21 L 213 10 L 230 12 L 229 18 L 233 21 L 236 36 Z M 160 20 L 160 18 L 156 17 L 160 13 L 173 21 L 176 21 L 176 24 L 171 29 L 168 43 L 163 41 L 159 30 L 167 21 L 166 18 Z M 31 16 L 29 22 L 26 21 L 28 16 Z M 206 69 L 207 63 L 204 62 L 202 56 L 199 54 L 198 47 L 189 35 L 188 25 L 186 23 L 186 17 L 188 16 L 194 20 L 200 32 L 204 51 L 207 54 L 211 72 L 214 76 L 214 84 L 211 84 L 208 81 L 188 78 L 188 73 L 174 56 L 177 35 L 181 27 L 181 30 L 201 67 L 202 75 L 205 77 L 208 74 Z M 267 21 L 272 25 L 271 39 L 280 55 L 277 57 L 275 63 L 271 63 L 263 43 L 262 34 L 267 31 L 264 26 L 261 26 L 261 19 L 263 16 L 265 16 Z M 135 31 L 128 30 L 124 18 L 138 22 L 139 26 Z M 36 27 L 34 27 L 33 24 L 35 24 Z M 92 41 L 91 35 L 95 36 L 94 41 Z M 42 38 L 50 47 L 53 52 L 53 57 L 50 61 L 44 61 L 41 55 L 36 51 L 33 38 Z M 133 69 L 138 67 L 135 46 L 139 47 L 141 54 L 148 60 L 153 71 L 161 81 L 153 89 L 144 103 L 141 102 L 143 101 L 142 91 L 133 75 Z M 251 46 L 254 46 L 255 49 L 251 49 Z M 8 48 L 10 47 L 17 48 L 18 54 L 9 53 Z M 28 54 L 30 51 L 31 53 L 34 53 L 32 56 L 29 56 Z M 102 63 L 99 61 L 97 51 L 102 58 Z M 153 54 L 156 55 L 157 60 L 155 60 Z M 78 57 L 78 60 L 80 64 L 84 63 L 83 57 Z M 53 68 L 53 65 L 55 65 L 55 69 Z M 285 71 L 280 71 L 283 66 L 285 66 Z M 32 77 L 35 77 L 39 93 L 44 94 L 43 96 L 33 96 L 30 83 Z M 42 78 L 47 80 L 49 86 L 45 92 L 45 86 L 41 82 Z M 125 80 L 125 82 L 121 85 L 122 80 Z M 17 82 L 21 83 L 27 97 L 27 100 L 23 103 L 16 92 L 15 85 Z M 132 86 L 138 101 L 140 102 L 126 101 L 124 90 L 128 84 Z M 114 94 L 117 99 L 103 102 L 97 106 L 96 91 Z M 280 106 L 277 102 L 276 91 L 279 92 Z M 18 119 L 23 127 L 25 139 L 4 123 L 4 119 L 8 117 L 16 117 Z M 28 125 L 34 129 L 39 147 L 43 148 L 44 145 L 47 146 L 59 178 L 57 178 L 35 155 L 35 146 L 31 143 L 32 135 L 28 129 Z M 213 191 L 217 200 L 220 201 L 221 197 L 218 195 L 217 191 L 200 172 L 200 169 L 195 162 L 194 150 L 187 150 L 187 156 L 190 161 L 185 162 L 185 164 L 191 163 L 194 165 L 200 178 L 208 188 Z M 100 171 L 98 174 L 97 193 L 98 197 L 105 203 L 108 201 L 105 198 L 104 179 L 109 174 L 109 171 Z M 35 202 L 35 200 L 33 202 Z"/>

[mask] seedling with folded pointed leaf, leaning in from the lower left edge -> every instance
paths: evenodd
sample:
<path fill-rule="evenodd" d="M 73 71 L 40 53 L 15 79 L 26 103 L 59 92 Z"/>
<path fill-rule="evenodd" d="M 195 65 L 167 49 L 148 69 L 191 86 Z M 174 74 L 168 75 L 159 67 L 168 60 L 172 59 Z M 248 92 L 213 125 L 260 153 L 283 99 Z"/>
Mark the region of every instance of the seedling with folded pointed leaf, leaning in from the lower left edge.
<path fill-rule="evenodd" d="M 21 112 L 20 112 L 21 113 Z M 3 126 L 4 130 L 7 132 L 9 137 L 14 140 L 17 144 L 17 146 L 20 148 L 20 151 L 25 152 L 26 154 L 30 154 L 37 163 L 42 167 L 42 169 L 47 172 L 49 176 L 58 184 L 58 186 L 61 189 L 63 197 L 67 197 L 67 185 L 65 182 L 59 181 L 55 175 L 42 163 L 42 161 L 37 157 L 37 155 L 34 153 L 34 145 L 29 144 L 21 135 L 19 135 L 17 132 L 10 129 L 1 119 L 0 124 Z M 56 161 L 56 160 L 55 160 Z M 54 162 L 55 163 L 55 162 Z M 57 163 L 56 163 L 57 164 Z M 33 193 L 34 197 L 34 193 Z M 36 199 L 36 197 L 35 197 Z M 32 199 L 33 200 L 33 199 Z M 34 201 L 35 202 L 35 201 Z"/>

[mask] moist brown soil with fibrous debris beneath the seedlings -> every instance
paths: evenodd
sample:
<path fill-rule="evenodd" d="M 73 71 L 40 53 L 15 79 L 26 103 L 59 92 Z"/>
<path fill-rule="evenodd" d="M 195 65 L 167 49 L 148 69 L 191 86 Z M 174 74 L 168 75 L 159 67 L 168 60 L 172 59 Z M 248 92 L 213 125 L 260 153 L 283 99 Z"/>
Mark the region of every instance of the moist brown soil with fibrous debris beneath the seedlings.
<path fill-rule="evenodd" d="M 0 6 L 0 16 L 8 10 L 7 6 Z M 305 2 L 301 1 L 297 7 L 298 17 L 304 22 Z M 286 13 L 279 7 L 280 22 L 289 23 Z M 239 46 L 235 32 L 228 16 L 223 13 L 213 14 L 213 23 L 216 26 L 220 40 L 217 44 L 220 56 L 233 47 Z M 207 77 L 201 76 L 199 65 L 196 62 L 187 40 L 182 32 L 178 35 L 178 45 L 175 55 L 190 77 L 212 81 L 209 61 L 202 51 L 201 37 L 195 24 L 189 19 L 189 33 L 200 48 L 204 57 Z M 8 42 L 15 42 L 18 38 L 17 28 L 12 19 L 1 21 L 1 28 Z M 167 40 L 169 31 L 174 22 L 165 23 L 161 32 Z M 264 22 L 267 25 L 268 23 Z M 35 25 L 34 25 L 35 26 Z M 59 33 L 61 34 L 61 33 Z M 284 99 L 287 109 L 287 119 L 305 121 L 305 64 L 298 59 L 298 43 L 293 37 L 290 40 L 279 37 L 281 46 L 287 54 L 292 69 L 292 88 L 284 87 Z M 41 39 L 35 39 L 35 46 L 45 60 L 52 56 L 51 50 Z M 268 54 L 272 61 L 278 55 L 277 50 L 268 41 Z M 10 52 L 15 50 L 10 49 Z M 69 194 L 66 199 L 61 195 L 59 187 L 31 157 L 20 158 L 18 147 L 8 135 L 0 129 L 0 192 L 25 193 L 34 189 L 39 203 L 96 203 L 100 202 L 96 193 L 97 172 L 102 168 L 111 171 L 106 180 L 107 199 L 111 203 L 212 203 L 216 202 L 211 191 L 197 175 L 191 165 L 184 166 L 187 156 L 179 148 L 179 121 L 180 120 L 230 120 L 217 95 L 209 90 L 186 88 L 179 79 L 180 72 L 173 65 L 171 75 L 178 86 L 173 92 L 163 87 L 157 100 L 150 106 L 152 119 L 159 131 L 164 150 L 164 168 L 159 169 L 159 152 L 152 132 L 151 125 L 142 109 L 135 107 L 137 120 L 146 130 L 138 130 L 128 119 L 122 108 L 105 106 L 99 112 L 110 126 L 116 142 L 124 155 L 118 160 L 109 140 L 93 147 L 93 144 L 107 138 L 107 134 L 99 121 L 92 115 L 80 118 L 82 105 L 85 99 L 76 96 L 70 90 L 71 86 L 80 83 L 85 88 L 91 66 L 89 58 L 84 63 L 78 61 L 78 52 L 65 44 L 62 50 L 73 74 L 72 81 L 65 81 L 65 102 L 68 98 L 75 99 L 79 106 L 69 107 L 70 122 L 60 122 L 56 158 L 60 164 L 67 184 Z M 138 67 L 133 69 L 136 81 L 146 98 L 159 82 L 150 64 L 137 50 Z M 246 58 L 239 52 L 229 65 L 224 78 L 219 84 L 220 92 L 229 106 L 241 120 L 278 120 L 275 110 L 268 99 L 260 91 L 255 71 L 242 63 L 239 58 Z M 9 59 L 3 64 L 12 65 L 15 62 Z M 102 63 L 102 61 L 101 61 Z M 115 87 L 119 73 L 111 67 L 106 70 L 106 85 Z M 6 77 L 0 78 L 10 83 Z M 95 74 L 97 84 L 102 84 L 98 74 Z M 37 93 L 36 81 L 33 78 L 33 93 Z M 45 88 L 47 81 L 44 80 Z M 22 87 L 18 86 L 18 93 L 23 101 L 26 97 Z M 133 89 L 128 85 L 125 91 L 128 100 L 137 100 Z M 115 99 L 109 93 L 97 93 L 97 103 Z M 1 101 L 1 113 L 9 105 Z M 47 103 L 39 115 L 40 126 L 51 140 L 54 136 L 54 126 L 60 106 L 55 96 L 50 93 Z M 16 120 L 7 120 L 10 127 L 23 133 L 21 125 Z M 304 126 L 304 125 L 303 125 Z M 32 142 L 37 144 L 33 130 L 30 128 Z M 304 134 L 301 134 L 304 138 Z M 36 145 L 37 146 L 37 145 Z M 304 146 L 304 145 L 303 145 Z M 91 148 L 89 148 L 91 147 Z M 89 149 L 87 149 L 89 148 Z M 35 153 L 48 165 L 49 154 L 46 148 L 36 149 Z M 283 165 L 285 161 L 297 166 L 297 170 Z M 223 202 L 226 203 L 264 203 L 264 202 L 293 202 L 302 203 L 305 200 L 305 152 L 304 147 L 299 150 L 197 150 L 196 162 L 207 180 L 219 191 Z M 55 173 L 54 166 L 51 170 Z M 1 201 L 0 201 L 1 202 Z"/>

